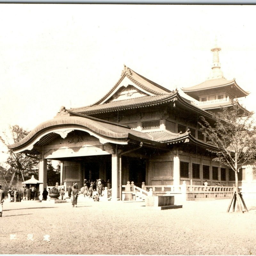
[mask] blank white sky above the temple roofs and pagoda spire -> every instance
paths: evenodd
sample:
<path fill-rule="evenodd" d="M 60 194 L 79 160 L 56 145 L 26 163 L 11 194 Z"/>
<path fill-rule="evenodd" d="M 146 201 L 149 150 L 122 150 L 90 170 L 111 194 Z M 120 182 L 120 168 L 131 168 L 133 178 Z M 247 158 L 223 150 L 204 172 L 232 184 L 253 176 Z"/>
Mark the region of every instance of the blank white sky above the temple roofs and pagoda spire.
<path fill-rule="evenodd" d="M 251 5 L 0 4 L 0 131 L 93 104 L 123 65 L 168 89 L 207 79 L 215 36 L 227 79 L 255 110 Z M 4 149 L 3 149 L 4 150 Z M 1 150 L 2 151 L 2 150 Z M 0 162 L 6 155 L 0 153 Z"/>

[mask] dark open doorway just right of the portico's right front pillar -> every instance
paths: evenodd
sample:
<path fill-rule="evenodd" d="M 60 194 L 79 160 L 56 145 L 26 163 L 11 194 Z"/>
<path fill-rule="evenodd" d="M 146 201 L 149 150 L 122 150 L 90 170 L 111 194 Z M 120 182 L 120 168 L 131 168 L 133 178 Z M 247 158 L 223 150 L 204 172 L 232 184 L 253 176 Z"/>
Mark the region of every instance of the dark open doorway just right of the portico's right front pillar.
<path fill-rule="evenodd" d="M 142 182 L 146 181 L 146 163 L 144 159 L 128 157 L 129 181 L 141 188 Z"/>

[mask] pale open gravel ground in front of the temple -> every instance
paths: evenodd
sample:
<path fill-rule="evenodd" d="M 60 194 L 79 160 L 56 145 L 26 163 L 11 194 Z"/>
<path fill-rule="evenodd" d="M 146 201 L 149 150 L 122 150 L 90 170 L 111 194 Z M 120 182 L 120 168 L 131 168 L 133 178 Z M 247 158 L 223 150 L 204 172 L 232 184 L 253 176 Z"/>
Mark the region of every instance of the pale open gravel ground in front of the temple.
<path fill-rule="evenodd" d="M 181 209 L 144 203 L 4 202 L 1 254 L 256 254 L 256 201 L 226 213 L 229 199 L 187 201 Z M 28 240 L 32 234 L 34 241 Z M 17 239 L 10 239 L 16 235 Z M 50 235 L 50 241 L 43 241 Z"/>

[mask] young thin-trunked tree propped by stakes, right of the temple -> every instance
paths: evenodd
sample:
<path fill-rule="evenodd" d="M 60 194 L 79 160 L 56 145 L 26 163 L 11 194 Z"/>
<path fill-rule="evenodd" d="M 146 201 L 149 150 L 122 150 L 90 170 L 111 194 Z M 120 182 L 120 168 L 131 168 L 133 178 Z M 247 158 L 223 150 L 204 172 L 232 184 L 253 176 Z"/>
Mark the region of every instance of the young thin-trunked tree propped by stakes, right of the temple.
<path fill-rule="evenodd" d="M 231 108 L 222 108 L 220 112 L 212 114 L 213 125 L 204 117 L 201 117 L 203 122 L 199 123 L 208 142 L 216 147 L 216 150 L 210 150 L 216 154 L 213 161 L 235 172 L 237 191 L 237 173 L 244 164 L 254 162 L 256 156 L 256 128 L 252 115 L 253 112 L 244 110 L 237 101 L 233 101 Z"/>

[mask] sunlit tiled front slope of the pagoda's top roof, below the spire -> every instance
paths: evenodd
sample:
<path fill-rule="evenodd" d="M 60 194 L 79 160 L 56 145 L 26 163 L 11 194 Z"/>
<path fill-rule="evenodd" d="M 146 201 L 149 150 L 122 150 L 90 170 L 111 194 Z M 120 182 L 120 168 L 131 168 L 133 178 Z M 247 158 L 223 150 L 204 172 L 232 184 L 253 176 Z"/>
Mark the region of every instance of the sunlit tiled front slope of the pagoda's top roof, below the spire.
<path fill-rule="evenodd" d="M 235 82 L 235 79 L 233 80 L 226 80 L 224 78 L 217 78 L 217 79 L 211 79 L 211 80 L 206 80 L 201 84 L 197 84 L 191 87 L 183 87 L 181 88 L 183 92 L 191 92 L 191 91 L 198 91 L 198 90 L 204 90 L 204 89 L 209 89 L 209 88 L 215 88 L 215 87 L 220 87 L 220 86 L 225 86 L 228 84 L 232 84 Z"/>

